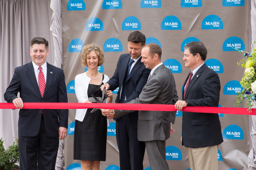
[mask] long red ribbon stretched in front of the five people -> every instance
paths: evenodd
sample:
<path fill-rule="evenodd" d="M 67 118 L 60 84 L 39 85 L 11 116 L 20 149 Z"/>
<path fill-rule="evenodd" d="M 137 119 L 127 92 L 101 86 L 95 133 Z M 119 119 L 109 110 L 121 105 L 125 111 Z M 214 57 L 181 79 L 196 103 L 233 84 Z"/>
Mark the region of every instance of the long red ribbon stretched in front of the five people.
<path fill-rule="evenodd" d="M 84 109 L 84 108 L 106 108 L 117 110 L 133 111 L 177 111 L 174 105 L 155 105 L 155 104 L 113 104 L 113 103 L 23 103 L 23 109 Z M 12 103 L 0 103 L 0 109 L 15 109 Z M 199 107 L 187 106 L 182 109 L 184 112 L 198 113 L 223 113 L 237 115 L 256 115 L 256 109 L 252 112 L 248 108 L 234 107 Z M 255 111 L 255 112 L 254 112 Z"/>

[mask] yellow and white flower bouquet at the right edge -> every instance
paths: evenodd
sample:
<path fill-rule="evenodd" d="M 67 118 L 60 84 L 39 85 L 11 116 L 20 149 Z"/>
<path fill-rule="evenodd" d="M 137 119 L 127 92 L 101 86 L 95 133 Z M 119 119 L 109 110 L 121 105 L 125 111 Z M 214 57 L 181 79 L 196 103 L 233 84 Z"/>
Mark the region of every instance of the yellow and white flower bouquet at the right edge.
<path fill-rule="evenodd" d="M 254 46 L 256 42 L 254 41 Z M 236 48 L 235 48 L 236 49 Z M 244 53 L 244 56 L 247 57 L 247 60 L 240 60 L 237 62 L 237 65 L 241 65 L 242 68 L 245 67 L 244 75 L 242 80 L 240 81 L 241 86 L 244 88 L 241 92 L 237 92 L 237 105 L 241 104 L 245 99 L 247 106 L 249 109 L 247 111 L 251 111 L 251 107 L 253 105 L 253 101 L 256 100 L 256 48 L 253 48 L 252 53 L 244 52 L 244 50 L 236 49 L 238 53 Z"/>

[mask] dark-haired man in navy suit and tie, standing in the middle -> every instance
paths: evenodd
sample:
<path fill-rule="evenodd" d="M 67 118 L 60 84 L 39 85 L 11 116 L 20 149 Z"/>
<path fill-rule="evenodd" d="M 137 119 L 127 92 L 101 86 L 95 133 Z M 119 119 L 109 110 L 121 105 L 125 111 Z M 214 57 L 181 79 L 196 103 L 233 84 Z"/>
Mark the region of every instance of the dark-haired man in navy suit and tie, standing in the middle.
<path fill-rule="evenodd" d="M 116 103 L 127 103 L 139 97 L 150 73 L 141 63 L 141 50 L 146 37 L 140 31 L 131 32 L 128 37 L 129 54 L 122 54 L 117 62 L 113 77 L 101 86 L 109 90 L 119 87 Z M 116 140 L 119 149 L 121 170 L 143 170 L 145 142 L 137 138 L 138 111 L 116 120 Z"/>

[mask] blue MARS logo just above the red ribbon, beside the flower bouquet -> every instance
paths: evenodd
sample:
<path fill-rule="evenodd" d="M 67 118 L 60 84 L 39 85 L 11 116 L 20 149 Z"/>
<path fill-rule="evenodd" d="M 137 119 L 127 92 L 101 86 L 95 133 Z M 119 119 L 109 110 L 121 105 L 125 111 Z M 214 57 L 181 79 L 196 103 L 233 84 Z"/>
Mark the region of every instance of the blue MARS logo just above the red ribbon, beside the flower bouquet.
<path fill-rule="evenodd" d="M 237 92 L 241 92 L 243 89 L 239 81 L 231 80 L 225 84 L 223 95 L 237 95 Z"/>

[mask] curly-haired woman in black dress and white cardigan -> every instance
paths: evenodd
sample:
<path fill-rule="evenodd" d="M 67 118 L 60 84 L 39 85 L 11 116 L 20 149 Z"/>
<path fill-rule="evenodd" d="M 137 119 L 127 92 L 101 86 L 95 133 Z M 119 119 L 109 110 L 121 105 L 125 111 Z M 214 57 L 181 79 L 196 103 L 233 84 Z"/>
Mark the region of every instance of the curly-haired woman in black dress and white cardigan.
<path fill-rule="evenodd" d="M 75 92 L 79 103 L 96 103 L 92 95 L 100 101 L 103 99 L 100 87 L 109 78 L 98 72 L 98 66 L 104 62 L 102 49 L 94 44 L 83 48 L 81 54 L 83 66 L 88 71 L 75 78 Z M 105 102 L 112 103 L 112 92 L 106 91 Z M 107 118 L 101 110 L 91 113 L 92 109 L 77 109 L 74 134 L 74 159 L 81 160 L 82 170 L 99 169 L 100 161 L 106 161 Z"/>

